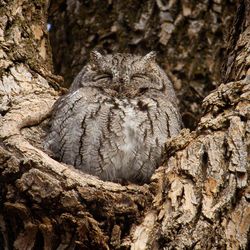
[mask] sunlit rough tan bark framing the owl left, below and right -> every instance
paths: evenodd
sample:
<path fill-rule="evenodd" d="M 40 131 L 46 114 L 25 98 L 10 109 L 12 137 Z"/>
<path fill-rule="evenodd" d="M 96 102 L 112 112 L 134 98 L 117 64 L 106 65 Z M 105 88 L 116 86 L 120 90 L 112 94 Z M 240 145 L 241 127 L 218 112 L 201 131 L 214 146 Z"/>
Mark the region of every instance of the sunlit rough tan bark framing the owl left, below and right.
<path fill-rule="evenodd" d="M 196 129 L 166 142 L 163 166 L 143 186 L 100 181 L 43 152 L 62 82 L 52 74 L 47 8 L 0 2 L 0 249 L 246 249 L 249 1 L 235 13 L 224 83 L 203 100 Z"/>

